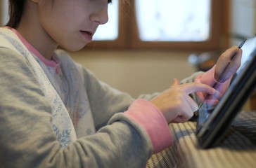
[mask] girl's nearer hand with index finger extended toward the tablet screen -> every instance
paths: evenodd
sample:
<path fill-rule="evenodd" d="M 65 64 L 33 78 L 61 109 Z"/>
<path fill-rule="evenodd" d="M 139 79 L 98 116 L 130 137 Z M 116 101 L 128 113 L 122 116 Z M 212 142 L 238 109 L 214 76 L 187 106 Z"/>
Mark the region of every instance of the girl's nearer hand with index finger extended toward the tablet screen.
<path fill-rule="evenodd" d="M 209 85 L 202 83 L 185 83 L 180 85 L 179 80 L 174 79 L 172 86 L 162 92 L 151 103 L 162 111 L 167 123 L 184 123 L 193 116 L 198 109 L 198 104 L 188 95 L 193 92 L 207 92 L 219 97 L 219 92 Z"/>

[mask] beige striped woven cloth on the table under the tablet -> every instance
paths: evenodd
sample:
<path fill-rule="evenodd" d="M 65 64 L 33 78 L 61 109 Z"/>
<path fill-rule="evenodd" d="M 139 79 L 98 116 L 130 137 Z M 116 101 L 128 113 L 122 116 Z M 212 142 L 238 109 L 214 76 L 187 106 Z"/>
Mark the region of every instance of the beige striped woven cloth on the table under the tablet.
<path fill-rule="evenodd" d="M 196 122 L 170 124 L 174 144 L 153 155 L 147 168 L 164 167 L 256 167 L 256 112 L 242 112 L 226 131 L 224 141 L 210 149 L 198 148 Z M 252 137 L 252 140 L 245 136 Z"/>

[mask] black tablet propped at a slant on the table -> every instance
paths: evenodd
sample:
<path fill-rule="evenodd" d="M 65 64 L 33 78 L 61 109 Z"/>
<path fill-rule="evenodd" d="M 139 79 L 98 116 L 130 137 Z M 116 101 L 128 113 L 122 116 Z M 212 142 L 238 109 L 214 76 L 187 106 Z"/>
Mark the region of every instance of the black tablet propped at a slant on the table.
<path fill-rule="evenodd" d="M 222 99 L 216 101 L 215 95 L 209 94 L 200 105 L 196 115 L 196 137 L 201 148 L 211 148 L 222 141 L 233 118 L 241 111 L 250 94 L 255 90 L 256 37 L 245 41 L 242 50 L 241 67 L 236 72 L 236 77 L 233 78 Z M 232 61 L 235 59 L 236 57 Z M 226 66 L 222 78 L 229 72 L 232 61 Z M 219 84 L 215 83 L 213 87 L 218 89 Z"/>

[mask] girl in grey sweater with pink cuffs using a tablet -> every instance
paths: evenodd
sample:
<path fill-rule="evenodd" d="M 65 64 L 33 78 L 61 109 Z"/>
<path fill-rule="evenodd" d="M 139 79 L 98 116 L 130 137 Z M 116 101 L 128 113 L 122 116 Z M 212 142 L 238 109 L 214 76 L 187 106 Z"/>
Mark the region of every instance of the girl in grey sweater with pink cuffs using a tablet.
<path fill-rule="evenodd" d="M 145 167 L 172 145 L 168 123 L 183 123 L 198 109 L 236 46 L 205 73 L 177 79 L 162 93 L 133 99 L 99 81 L 67 52 L 92 39 L 108 22 L 109 0 L 10 0 L 0 28 L 1 167 Z M 193 94 L 197 92 L 197 94 Z M 193 94 L 192 97 L 189 94 Z M 124 112 L 124 113 L 122 113 Z"/>

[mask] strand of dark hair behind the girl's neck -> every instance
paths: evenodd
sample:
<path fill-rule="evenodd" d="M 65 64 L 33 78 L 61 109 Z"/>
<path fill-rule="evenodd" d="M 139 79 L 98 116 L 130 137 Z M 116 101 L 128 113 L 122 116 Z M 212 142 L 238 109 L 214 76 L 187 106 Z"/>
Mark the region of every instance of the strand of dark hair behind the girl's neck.
<path fill-rule="evenodd" d="M 17 28 L 23 16 L 25 0 L 9 0 L 9 21 L 6 26 Z"/>

